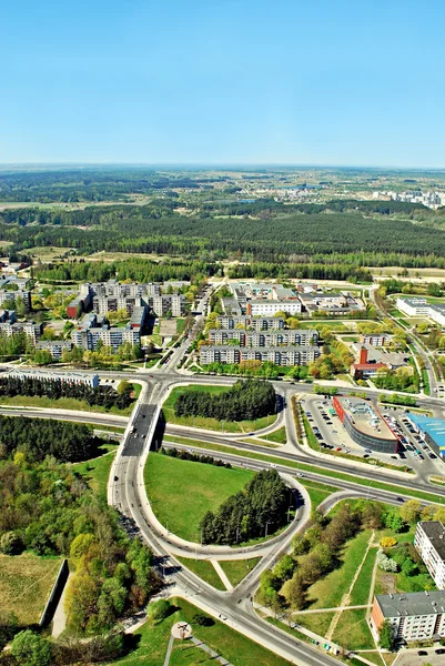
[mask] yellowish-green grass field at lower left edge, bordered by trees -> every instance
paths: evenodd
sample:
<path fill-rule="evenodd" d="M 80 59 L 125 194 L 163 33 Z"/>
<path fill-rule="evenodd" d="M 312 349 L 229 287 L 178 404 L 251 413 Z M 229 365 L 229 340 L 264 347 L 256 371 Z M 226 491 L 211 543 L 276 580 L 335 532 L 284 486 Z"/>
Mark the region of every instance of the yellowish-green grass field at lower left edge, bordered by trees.
<path fill-rule="evenodd" d="M 60 557 L 26 553 L 0 555 L 1 609 L 14 613 L 22 625 L 38 623 L 59 573 Z"/>

